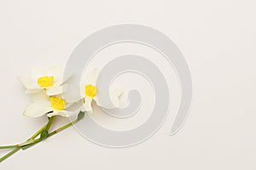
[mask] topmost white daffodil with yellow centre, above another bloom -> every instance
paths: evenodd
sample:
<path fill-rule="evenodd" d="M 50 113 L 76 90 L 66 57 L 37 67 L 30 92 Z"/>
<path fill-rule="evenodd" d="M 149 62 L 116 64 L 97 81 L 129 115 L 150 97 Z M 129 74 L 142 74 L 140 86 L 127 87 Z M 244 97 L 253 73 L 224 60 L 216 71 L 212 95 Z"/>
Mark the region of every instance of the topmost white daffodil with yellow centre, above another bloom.
<path fill-rule="evenodd" d="M 18 77 L 26 88 L 26 94 L 37 94 L 45 91 L 47 95 L 58 95 L 66 91 L 63 85 L 61 65 L 52 65 L 46 71 L 41 68 L 32 68 L 29 78 Z"/>

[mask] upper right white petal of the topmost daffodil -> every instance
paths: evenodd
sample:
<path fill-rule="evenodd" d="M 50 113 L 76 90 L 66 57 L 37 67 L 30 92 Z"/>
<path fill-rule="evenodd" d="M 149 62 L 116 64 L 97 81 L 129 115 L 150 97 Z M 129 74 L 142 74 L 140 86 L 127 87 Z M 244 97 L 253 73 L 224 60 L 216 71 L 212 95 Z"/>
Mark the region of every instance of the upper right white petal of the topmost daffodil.
<path fill-rule="evenodd" d="M 62 82 L 63 68 L 61 65 L 51 65 L 47 69 L 47 75 L 54 77 L 54 82 Z"/>

